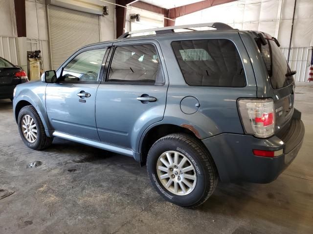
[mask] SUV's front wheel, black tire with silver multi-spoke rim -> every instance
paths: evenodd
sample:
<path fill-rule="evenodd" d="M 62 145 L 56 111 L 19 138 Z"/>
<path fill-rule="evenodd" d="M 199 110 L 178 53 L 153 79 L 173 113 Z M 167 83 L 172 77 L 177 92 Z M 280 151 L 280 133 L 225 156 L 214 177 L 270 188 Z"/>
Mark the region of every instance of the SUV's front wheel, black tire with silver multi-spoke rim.
<path fill-rule="evenodd" d="M 33 119 L 31 124 L 25 125 L 25 120 L 27 119 Z M 24 127 L 34 126 L 33 124 L 35 124 L 36 126 L 32 130 L 30 130 L 30 132 L 33 132 L 34 135 L 36 135 L 36 137 L 34 137 L 33 135 L 32 136 L 33 138 L 29 138 L 30 139 L 29 140 L 26 138 L 27 135 L 26 136 L 24 135 L 24 132 L 26 131 Z M 19 128 L 20 136 L 24 144 L 31 149 L 43 150 L 47 148 L 48 146 L 50 146 L 53 141 L 52 137 L 47 137 L 45 135 L 45 128 L 44 128 L 43 122 L 41 121 L 36 109 L 32 105 L 24 106 L 19 112 L 18 128 Z M 35 130 L 37 131 L 37 134 L 35 134 Z"/>

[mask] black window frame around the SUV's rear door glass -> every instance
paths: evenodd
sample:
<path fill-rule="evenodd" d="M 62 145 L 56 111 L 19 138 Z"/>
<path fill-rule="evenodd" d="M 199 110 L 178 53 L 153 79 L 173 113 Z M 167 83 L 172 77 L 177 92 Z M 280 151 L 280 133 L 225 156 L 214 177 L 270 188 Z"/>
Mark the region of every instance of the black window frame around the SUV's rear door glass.
<path fill-rule="evenodd" d="M 113 57 L 114 57 L 114 53 L 117 47 L 122 47 L 122 46 L 134 46 L 134 45 L 153 45 L 157 56 L 159 58 L 159 66 L 161 67 L 162 70 L 162 76 L 163 76 L 163 82 L 162 83 L 152 83 L 152 82 L 137 82 L 137 81 L 108 81 L 109 78 L 109 73 L 110 73 L 110 68 L 111 68 L 111 64 L 113 61 Z M 135 41 L 135 42 L 131 42 L 131 43 L 118 43 L 118 44 L 113 44 L 110 48 L 110 52 L 109 52 L 109 56 L 107 58 L 106 64 L 105 64 L 105 69 L 104 69 L 104 73 L 103 73 L 103 78 L 101 81 L 101 84 L 121 84 L 121 85 L 141 85 L 141 86 L 164 86 L 166 83 L 166 78 L 165 78 L 165 73 L 164 73 L 164 69 L 163 69 L 163 65 L 162 65 L 162 61 L 160 59 L 160 53 L 157 49 L 157 46 L 155 43 L 152 42 L 146 42 L 146 41 Z"/>

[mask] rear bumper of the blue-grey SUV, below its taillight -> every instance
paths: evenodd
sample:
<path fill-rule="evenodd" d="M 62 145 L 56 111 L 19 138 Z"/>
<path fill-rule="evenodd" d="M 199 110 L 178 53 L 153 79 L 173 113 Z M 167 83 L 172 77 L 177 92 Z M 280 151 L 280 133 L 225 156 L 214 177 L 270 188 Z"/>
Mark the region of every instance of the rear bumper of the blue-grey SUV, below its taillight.
<path fill-rule="evenodd" d="M 301 148 L 304 125 L 300 117 L 301 113 L 295 110 L 287 130 L 267 139 L 225 133 L 202 140 L 215 161 L 221 181 L 269 183 L 275 180 Z M 253 155 L 253 149 L 283 149 L 284 154 L 271 158 L 260 157 Z"/>

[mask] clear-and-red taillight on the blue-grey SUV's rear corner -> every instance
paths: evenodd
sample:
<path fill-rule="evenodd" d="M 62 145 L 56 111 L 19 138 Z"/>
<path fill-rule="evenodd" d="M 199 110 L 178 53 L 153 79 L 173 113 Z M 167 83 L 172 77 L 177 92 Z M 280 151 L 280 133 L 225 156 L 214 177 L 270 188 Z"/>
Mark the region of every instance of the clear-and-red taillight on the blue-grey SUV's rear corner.
<path fill-rule="evenodd" d="M 262 138 L 274 134 L 275 113 L 271 98 L 239 99 L 238 108 L 246 134 Z"/>

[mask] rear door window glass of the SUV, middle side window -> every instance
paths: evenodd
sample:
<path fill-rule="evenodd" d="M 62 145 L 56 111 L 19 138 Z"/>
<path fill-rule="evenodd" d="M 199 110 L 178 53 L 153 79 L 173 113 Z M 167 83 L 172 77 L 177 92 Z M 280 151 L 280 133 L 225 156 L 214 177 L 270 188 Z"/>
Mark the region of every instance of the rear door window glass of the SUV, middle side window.
<path fill-rule="evenodd" d="M 107 82 L 163 85 L 164 76 L 155 46 L 141 44 L 116 47 Z"/>

